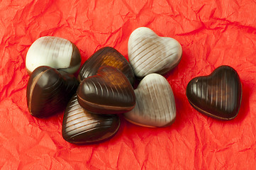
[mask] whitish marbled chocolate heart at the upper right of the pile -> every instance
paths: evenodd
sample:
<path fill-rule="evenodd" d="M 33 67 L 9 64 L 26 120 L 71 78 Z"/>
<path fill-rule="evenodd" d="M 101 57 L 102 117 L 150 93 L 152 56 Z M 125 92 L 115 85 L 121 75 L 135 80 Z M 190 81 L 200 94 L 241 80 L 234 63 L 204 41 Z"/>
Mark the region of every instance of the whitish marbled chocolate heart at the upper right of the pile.
<path fill-rule="evenodd" d="M 179 64 L 182 46 L 173 38 L 159 37 L 150 28 L 140 27 L 130 35 L 128 59 L 138 78 L 165 74 Z"/>

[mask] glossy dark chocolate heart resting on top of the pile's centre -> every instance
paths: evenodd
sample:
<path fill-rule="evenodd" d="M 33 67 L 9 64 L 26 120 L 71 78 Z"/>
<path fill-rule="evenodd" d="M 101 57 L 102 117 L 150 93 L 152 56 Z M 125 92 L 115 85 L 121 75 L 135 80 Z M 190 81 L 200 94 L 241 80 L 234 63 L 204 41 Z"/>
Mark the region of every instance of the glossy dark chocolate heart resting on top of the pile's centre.
<path fill-rule="evenodd" d="M 84 79 L 77 89 L 77 98 L 83 108 L 93 113 L 125 113 L 135 106 L 129 80 L 110 66 L 101 67 L 95 76 Z"/>

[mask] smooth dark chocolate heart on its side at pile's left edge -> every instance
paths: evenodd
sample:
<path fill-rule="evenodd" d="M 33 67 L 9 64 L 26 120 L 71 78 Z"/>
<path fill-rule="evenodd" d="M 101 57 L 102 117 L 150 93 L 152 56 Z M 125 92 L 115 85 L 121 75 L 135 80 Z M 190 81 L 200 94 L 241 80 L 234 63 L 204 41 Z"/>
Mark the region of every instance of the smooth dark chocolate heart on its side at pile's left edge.
<path fill-rule="evenodd" d="M 72 74 L 46 66 L 38 67 L 28 80 L 28 111 L 37 118 L 62 111 L 78 85 L 79 82 Z"/>

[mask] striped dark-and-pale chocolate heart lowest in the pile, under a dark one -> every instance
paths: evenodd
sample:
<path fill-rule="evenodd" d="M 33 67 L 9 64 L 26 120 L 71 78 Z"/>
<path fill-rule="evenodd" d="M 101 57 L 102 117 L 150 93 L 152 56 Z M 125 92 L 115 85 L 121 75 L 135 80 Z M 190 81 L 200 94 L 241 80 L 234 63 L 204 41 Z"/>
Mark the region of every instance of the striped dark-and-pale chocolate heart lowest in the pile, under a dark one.
<path fill-rule="evenodd" d="M 118 131 L 118 115 L 99 115 L 82 108 L 74 95 L 64 113 L 62 137 L 73 144 L 91 144 L 112 137 Z"/>

